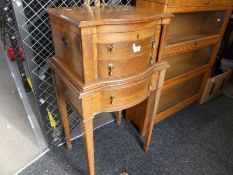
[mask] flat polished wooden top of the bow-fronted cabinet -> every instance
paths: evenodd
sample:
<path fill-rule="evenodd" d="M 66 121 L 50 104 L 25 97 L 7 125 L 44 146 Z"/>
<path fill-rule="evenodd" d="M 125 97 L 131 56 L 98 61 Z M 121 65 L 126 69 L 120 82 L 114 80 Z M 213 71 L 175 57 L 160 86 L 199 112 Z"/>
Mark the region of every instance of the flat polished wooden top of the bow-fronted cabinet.
<path fill-rule="evenodd" d="M 102 6 L 102 7 L 73 7 L 49 8 L 47 12 L 80 27 L 103 24 L 119 24 L 145 22 L 150 20 L 173 17 L 171 14 L 162 14 L 148 9 L 131 6 Z"/>

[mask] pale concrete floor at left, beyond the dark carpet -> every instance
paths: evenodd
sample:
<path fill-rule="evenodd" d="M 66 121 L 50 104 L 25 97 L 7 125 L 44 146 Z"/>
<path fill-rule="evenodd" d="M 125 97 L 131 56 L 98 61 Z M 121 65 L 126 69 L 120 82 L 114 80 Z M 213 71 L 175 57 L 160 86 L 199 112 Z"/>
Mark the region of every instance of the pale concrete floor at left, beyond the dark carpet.
<path fill-rule="evenodd" d="M 7 62 L 0 53 L 0 174 L 15 174 L 42 152 Z"/>

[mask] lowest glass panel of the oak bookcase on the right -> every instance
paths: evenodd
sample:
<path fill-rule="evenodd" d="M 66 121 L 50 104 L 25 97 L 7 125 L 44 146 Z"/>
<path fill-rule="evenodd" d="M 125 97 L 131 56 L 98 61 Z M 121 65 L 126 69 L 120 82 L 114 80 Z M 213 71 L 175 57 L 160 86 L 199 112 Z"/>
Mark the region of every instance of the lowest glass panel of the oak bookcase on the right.
<path fill-rule="evenodd" d="M 177 105 L 184 100 L 197 95 L 200 91 L 204 75 L 179 83 L 168 89 L 163 89 L 159 101 L 158 113 Z"/>

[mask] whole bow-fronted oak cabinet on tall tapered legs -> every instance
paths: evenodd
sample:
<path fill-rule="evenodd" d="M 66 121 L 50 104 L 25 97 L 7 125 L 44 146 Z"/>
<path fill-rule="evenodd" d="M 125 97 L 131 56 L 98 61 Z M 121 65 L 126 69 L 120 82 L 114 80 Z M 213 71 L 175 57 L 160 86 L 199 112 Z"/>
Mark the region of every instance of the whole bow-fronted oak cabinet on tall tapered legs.
<path fill-rule="evenodd" d="M 94 174 L 93 119 L 146 103 L 148 150 L 168 64 L 157 62 L 163 25 L 172 15 L 130 6 L 48 9 L 55 56 L 50 58 L 68 149 L 66 103 L 80 116 L 89 173 Z"/>

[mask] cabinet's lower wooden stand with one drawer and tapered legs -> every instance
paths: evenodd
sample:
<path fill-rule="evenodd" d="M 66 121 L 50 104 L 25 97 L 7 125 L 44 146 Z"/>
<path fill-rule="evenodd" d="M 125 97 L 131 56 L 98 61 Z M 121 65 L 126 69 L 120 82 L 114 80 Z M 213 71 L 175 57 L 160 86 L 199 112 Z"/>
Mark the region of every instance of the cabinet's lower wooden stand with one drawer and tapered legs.
<path fill-rule="evenodd" d="M 69 150 L 72 148 L 66 109 L 66 103 L 69 103 L 81 118 L 81 124 L 85 133 L 84 138 L 90 174 L 94 174 L 93 119 L 98 113 L 121 111 L 138 105 L 145 100 L 147 104 L 145 114 L 147 132 L 144 150 L 148 150 L 161 87 L 163 86 L 166 68 L 168 68 L 167 63 L 155 64 L 151 69 L 140 75 L 108 82 L 98 89 L 93 89 L 93 91 L 87 93 L 83 92 L 83 88 L 75 75 L 56 58 L 51 58 L 49 64 L 53 70 L 54 85 L 56 87 L 67 147 Z M 114 95 L 109 99 L 110 94 Z M 120 118 L 121 115 L 118 112 L 118 121 Z"/>

